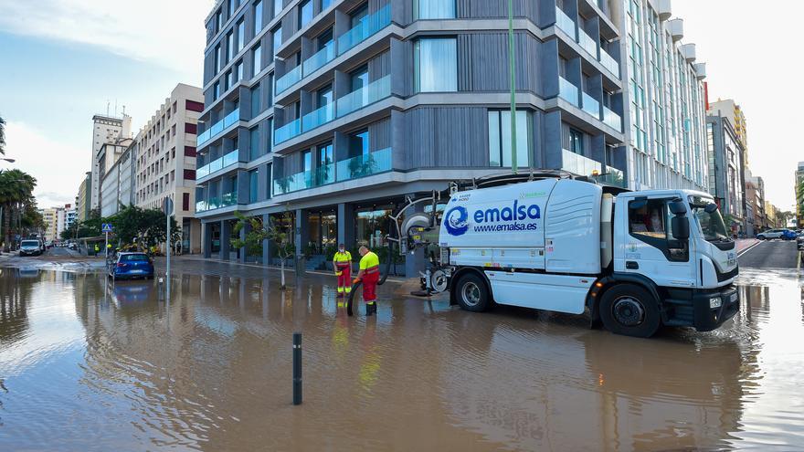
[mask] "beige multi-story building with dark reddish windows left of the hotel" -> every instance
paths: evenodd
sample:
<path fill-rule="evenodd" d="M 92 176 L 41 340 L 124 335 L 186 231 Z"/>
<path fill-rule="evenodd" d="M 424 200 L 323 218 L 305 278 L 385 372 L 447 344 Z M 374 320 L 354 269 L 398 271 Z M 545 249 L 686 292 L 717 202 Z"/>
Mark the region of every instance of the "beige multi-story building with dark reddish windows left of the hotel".
<path fill-rule="evenodd" d="M 134 202 L 143 208 L 161 208 L 165 197 L 172 199 L 184 250 L 195 253 L 201 247 L 195 200 L 196 133 L 202 110 L 201 89 L 176 85 L 138 134 L 134 160 Z"/>

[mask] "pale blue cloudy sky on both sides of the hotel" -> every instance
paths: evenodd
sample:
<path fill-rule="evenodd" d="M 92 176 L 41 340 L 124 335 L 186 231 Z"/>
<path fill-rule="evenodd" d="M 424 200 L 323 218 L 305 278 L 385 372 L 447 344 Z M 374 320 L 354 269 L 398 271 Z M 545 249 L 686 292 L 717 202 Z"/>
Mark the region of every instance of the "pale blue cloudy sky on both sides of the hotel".
<path fill-rule="evenodd" d="M 90 169 L 91 118 L 132 116 L 133 130 L 179 82 L 201 86 L 214 0 L 0 0 L 0 114 L 7 157 L 37 178 L 38 204 L 73 203 Z M 685 43 L 707 63 L 710 99 L 735 99 L 748 121 L 749 164 L 783 210 L 794 203 L 799 17 L 804 2 L 672 0 Z M 764 33 L 760 33 L 760 32 Z M 6 168 L 7 163 L 0 163 Z"/>

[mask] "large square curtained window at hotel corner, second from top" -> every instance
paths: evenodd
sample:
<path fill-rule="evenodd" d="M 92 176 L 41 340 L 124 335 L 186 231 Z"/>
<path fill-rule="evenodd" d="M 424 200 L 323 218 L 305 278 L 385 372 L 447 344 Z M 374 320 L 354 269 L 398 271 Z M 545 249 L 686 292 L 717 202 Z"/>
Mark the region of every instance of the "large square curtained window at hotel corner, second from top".
<path fill-rule="evenodd" d="M 458 45 L 454 38 L 416 41 L 414 79 L 416 92 L 458 90 Z"/>

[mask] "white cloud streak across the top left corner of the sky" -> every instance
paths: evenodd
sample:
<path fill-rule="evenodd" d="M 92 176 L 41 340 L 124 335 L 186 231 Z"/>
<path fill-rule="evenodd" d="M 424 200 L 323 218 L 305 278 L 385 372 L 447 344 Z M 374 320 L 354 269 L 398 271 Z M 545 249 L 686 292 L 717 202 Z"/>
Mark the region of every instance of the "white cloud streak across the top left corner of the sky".
<path fill-rule="evenodd" d="M 0 0 L 0 29 L 198 72 L 212 0 Z"/>

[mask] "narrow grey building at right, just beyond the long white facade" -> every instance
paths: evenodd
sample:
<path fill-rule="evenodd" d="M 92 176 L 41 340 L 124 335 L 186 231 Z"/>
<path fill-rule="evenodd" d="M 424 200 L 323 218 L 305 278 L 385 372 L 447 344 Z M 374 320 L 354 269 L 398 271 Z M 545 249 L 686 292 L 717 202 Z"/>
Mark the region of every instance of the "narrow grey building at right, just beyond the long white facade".
<path fill-rule="evenodd" d="M 709 193 L 714 195 L 732 234 L 746 234 L 743 180 L 743 145 L 723 116 L 706 117 Z"/>

